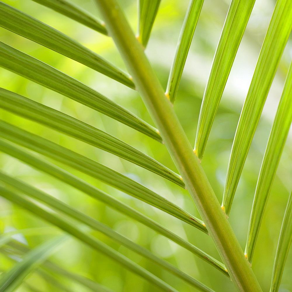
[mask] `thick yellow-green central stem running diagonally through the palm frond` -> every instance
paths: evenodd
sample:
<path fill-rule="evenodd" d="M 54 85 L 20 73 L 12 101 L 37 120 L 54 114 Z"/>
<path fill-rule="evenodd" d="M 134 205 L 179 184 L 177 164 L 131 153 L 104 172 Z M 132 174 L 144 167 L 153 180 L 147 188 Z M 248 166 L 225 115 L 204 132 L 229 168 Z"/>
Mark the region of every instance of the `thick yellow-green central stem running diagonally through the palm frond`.
<path fill-rule="evenodd" d="M 133 77 L 134 83 L 206 224 L 238 291 L 261 292 L 239 242 L 194 154 L 171 102 L 152 69 L 141 44 L 116 0 L 95 0 L 109 35 Z"/>

